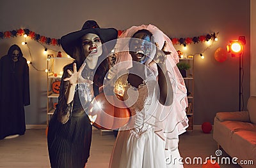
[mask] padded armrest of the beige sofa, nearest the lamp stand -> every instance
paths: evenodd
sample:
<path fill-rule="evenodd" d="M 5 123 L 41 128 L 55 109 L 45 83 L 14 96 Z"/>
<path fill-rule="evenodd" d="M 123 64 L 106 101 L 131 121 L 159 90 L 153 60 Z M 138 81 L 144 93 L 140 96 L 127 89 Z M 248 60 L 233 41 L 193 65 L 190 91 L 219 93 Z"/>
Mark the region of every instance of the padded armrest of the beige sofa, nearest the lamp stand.
<path fill-rule="evenodd" d="M 221 122 L 224 121 L 238 121 L 238 122 L 250 122 L 250 116 L 248 111 L 235 111 L 235 112 L 219 112 L 216 113 L 216 118 Z"/>

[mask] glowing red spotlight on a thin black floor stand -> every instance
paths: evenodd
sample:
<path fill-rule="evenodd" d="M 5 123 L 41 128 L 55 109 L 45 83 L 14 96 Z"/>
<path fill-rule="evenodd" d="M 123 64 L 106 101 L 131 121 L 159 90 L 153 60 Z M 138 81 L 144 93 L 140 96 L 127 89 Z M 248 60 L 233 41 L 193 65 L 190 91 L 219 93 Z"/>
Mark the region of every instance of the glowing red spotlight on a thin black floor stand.
<path fill-rule="evenodd" d="M 238 40 L 231 40 L 227 45 L 227 52 L 231 53 L 231 57 L 239 57 L 239 111 L 241 111 L 241 57 L 244 55 L 244 45 L 246 43 L 245 36 L 239 36 Z"/>

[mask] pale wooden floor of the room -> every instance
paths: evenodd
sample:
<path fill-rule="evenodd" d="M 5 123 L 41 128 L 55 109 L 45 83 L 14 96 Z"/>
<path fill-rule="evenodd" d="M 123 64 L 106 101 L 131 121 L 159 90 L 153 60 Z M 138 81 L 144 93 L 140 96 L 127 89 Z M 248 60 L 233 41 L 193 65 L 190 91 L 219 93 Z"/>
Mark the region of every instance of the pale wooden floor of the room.
<path fill-rule="evenodd" d="M 87 168 L 107 168 L 115 136 L 113 132 L 93 130 L 91 155 Z M 217 144 L 212 134 L 204 134 L 201 130 L 186 132 L 180 136 L 179 150 L 183 158 L 213 157 Z M 223 151 L 223 156 L 227 155 Z M 50 167 L 47 151 L 47 137 L 44 129 L 26 130 L 24 136 L 0 140 L 0 167 Z M 202 165 L 184 165 L 184 167 L 200 167 Z M 238 165 L 221 165 L 237 168 Z"/>

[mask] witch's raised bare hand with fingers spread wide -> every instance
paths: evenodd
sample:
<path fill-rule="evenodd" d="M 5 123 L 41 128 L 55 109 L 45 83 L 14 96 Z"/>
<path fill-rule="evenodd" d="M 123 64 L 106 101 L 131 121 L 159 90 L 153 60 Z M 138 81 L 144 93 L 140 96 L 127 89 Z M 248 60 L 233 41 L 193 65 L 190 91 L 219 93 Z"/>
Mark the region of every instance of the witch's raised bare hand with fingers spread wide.
<path fill-rule="evenodd" d="M 69 81 L 70 85 L 76 85 L 77 83 L 89 83 L 90 85 L 92 85 L 93 81 L 86 80 L 81 75 L 85 65 L 86 65 L 86 63 L 84 62 L 84 64 L 77 71 L 76 63 L 74 63 L 73 64 L 74 72 L 72 73 L 72 71 L 70 71 L 70 69 L 68 69 L 67 73 L 70 75 L 70 77 L 65 78 L 64 81 Z"/>

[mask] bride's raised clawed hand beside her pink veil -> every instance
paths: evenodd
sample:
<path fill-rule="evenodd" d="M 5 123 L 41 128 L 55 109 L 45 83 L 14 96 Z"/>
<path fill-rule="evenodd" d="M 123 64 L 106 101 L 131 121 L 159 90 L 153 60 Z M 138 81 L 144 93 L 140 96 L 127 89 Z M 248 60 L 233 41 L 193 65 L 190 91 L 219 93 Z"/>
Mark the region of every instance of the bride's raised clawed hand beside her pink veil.
<path fill-rule="evenodd" d="M 164 41 L 164 45 L 163 45 L 163 48 L 160 50 L 159 49 L 159 45 L 158 43 L 155 43 L 156 45 L 156 54 L 154 56 L 154 59 L 152 60 L 152 62 L 149 63 L 149 66 L 154 64 L 154 63 L 157 63 L 157 64 L 164 64 L 167 56 L 166 55 L 169 55 L 171 52 L 168 52 L 166 51 L 166 41 Z"/>

